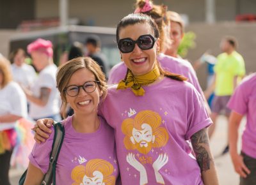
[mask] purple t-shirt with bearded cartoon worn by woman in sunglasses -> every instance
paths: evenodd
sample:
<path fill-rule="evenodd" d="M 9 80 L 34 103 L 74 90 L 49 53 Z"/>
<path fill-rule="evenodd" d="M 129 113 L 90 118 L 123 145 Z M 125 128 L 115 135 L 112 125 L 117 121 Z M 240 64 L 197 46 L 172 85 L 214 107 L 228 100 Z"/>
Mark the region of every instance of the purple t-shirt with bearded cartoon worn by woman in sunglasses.
<path fill-rule="evenodd" d="M 202 96 L 167 77 L 143 89 L 144 96 L 135 96 L 113 85 L 100 108 L 115 129 L 122 184 L 203 184 L 186 142 L 211 124 Z"/>

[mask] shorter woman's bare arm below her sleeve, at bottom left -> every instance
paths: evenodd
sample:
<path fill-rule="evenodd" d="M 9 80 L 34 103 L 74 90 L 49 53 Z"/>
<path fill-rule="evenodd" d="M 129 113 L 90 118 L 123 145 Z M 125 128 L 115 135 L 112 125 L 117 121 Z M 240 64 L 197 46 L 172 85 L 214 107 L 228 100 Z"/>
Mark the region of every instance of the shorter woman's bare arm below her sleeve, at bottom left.
<path fill-rule="evenodd" d="M 40 185 L 44 178 L 43 172 L 29 162 L 24 185 Z"/>

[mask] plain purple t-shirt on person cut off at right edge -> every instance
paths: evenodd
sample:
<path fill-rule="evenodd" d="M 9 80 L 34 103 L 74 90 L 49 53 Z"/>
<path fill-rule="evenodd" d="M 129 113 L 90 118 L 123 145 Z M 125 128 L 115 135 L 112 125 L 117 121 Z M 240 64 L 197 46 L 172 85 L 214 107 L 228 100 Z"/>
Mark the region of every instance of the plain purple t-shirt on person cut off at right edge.
<path fill-rule="evenodd" d="M 256 73 L 244 78 L 227 106 L 238 114 L 246 115 L 242 151 L 256 159 Z"/>

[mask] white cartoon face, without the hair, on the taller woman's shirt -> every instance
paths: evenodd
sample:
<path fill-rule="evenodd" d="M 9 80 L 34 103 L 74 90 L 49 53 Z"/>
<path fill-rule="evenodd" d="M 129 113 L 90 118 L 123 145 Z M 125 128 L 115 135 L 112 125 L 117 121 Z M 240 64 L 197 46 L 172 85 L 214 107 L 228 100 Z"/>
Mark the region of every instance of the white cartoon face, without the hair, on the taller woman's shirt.
<path fill-rule="evenodd" d="M 155 136 L 152 133 L 152 128 L 149 124 L 143 123 L 141 125 L 142 130 L 138 130 L 136 128 L 132 129 L 132 137 L 131 142 L 135 144 L 135 142 L 140 144 L 140 147 L 148 147 L 148 143 L 155 141 Z"/>

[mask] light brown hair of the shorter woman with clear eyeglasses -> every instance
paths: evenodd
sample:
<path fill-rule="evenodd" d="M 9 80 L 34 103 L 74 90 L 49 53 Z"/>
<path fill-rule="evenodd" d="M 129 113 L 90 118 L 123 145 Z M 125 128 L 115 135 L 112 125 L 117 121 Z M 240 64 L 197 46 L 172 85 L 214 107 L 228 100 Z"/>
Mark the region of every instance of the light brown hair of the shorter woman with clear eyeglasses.
<path fill-rule="evenodd" d="M 100 101 L 103 101 L 107 96 L 107 84 L 106 84 L 106 77 L 104 73 L 102 72 L 99 64 L 97 64 L 95 61 L 93 61 L 90 57 L 77 57 L 75 59 L 72 59 L 68 61 L 65 64 L 62 64 L 57 71 L 56 80 L 57 80 L 57 87 L 60 91 L 61 95 L 61 107 L 64 108 L 64 110 L 67 108 L 67 98 L 65 93 L 65 88 L 68 85 L 68 82 L 72 75 L 80 69 L 88 69 L 93 73 L 95 76 L 95 80 L 99 81 L 99 88 L 100 91 L 102 91 L 102 96 L 100 98 Z M 62 115 L 63 117 L 67 117 L 65 112 Z"/>

